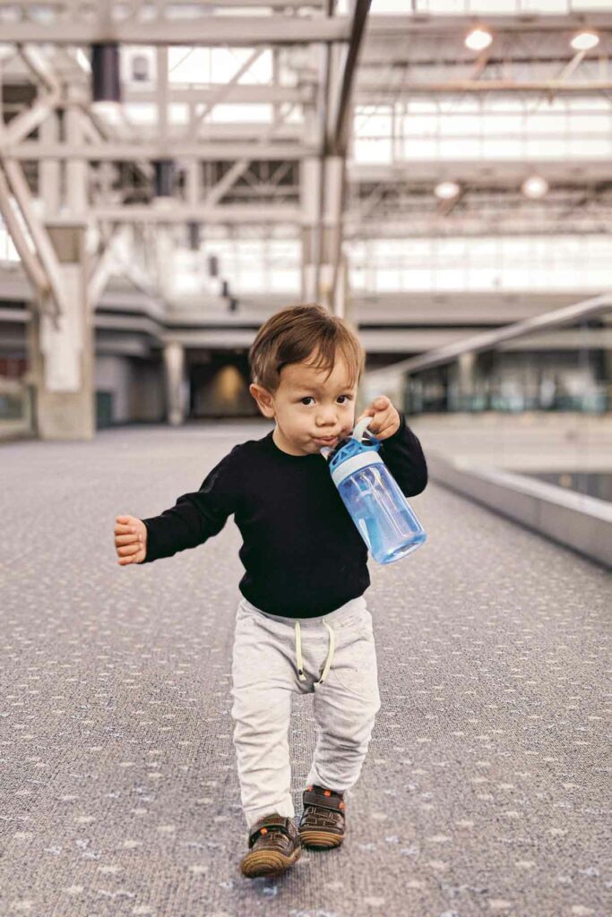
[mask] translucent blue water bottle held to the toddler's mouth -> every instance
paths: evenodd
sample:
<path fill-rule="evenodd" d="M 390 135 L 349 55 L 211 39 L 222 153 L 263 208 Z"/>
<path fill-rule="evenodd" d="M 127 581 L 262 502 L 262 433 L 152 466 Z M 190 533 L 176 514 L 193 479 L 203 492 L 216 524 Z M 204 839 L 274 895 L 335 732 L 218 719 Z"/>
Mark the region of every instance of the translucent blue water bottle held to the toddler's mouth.
<path fill-rule="evenodd" d="M 363 417 L 349 439 L 320 452 L 328 459 L 331 478 L 374 560 L 391 564 L 415 551 L 427 536 L 378 454 L 380 441 L 367 428 L 371 419 Z"/>

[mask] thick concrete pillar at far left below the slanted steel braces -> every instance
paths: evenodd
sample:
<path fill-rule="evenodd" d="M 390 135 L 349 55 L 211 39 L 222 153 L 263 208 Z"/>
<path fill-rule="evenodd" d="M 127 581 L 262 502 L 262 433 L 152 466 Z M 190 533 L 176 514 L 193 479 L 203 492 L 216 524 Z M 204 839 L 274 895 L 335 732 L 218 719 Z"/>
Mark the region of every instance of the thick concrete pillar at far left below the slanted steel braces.
<path fill-rule="evenodd" d="M 87 301 L 85 226 L 48 224 L 60 261 L 65 309 L 57 327 L 32 310 L 28 329 L 41 439 L 91 439 L 95 435 L 94 333 Z"/>

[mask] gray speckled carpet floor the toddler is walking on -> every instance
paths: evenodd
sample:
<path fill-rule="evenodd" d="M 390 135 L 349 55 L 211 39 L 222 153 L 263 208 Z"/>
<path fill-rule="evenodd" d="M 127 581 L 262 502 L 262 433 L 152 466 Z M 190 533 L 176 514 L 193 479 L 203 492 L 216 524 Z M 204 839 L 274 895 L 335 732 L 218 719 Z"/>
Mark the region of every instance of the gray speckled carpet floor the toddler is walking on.
<path fill-rule="evenodd" d="M 239 532 L 125 569 L 112 533 L 268 429 L 0 448 L 0 917 L 612 913 L 609 577 L 434 484 L 427 545 L 371 564 L 383 708 L 346 844 L 240 876 Z"/>

